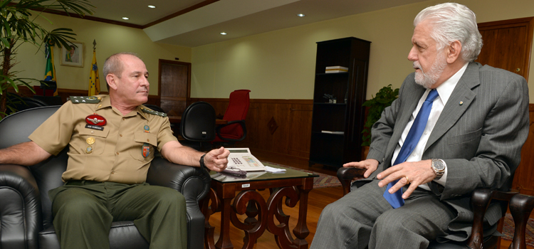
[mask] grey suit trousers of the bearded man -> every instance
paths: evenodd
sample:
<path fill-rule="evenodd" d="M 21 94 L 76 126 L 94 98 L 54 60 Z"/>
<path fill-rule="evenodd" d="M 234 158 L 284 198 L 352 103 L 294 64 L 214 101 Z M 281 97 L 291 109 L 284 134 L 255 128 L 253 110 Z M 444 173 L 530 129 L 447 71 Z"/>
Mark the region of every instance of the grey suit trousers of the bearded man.
<path fill-rule="evenodd" d="M 385 186 L 380 188 L 378 182 L 326 206 L 310 249 L 427 248 L 429 240 L 446 235 L 456 214 L 436 195 L 418 188 L 404 206 L 394 209 L 382 196 Z"/>

